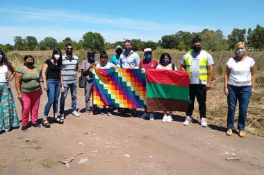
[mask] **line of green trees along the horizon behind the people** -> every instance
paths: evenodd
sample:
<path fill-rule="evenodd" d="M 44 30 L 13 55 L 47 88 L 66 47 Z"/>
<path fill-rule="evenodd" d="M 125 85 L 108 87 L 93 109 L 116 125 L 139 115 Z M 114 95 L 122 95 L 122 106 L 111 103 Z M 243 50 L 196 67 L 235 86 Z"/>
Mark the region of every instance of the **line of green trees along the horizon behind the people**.
<path fill-rule="evenodd" d="M 153 41 L 141 41 L 140 39 L 131 39 L 133 43 L 133 50 L 144 50 L 144 48 L 151 48 L 155 50 L 160 48 L 176 48 L 178 50 L 189 50 L 192 44 L 192 39 L 196 36 L 201 37 L 203 47 L 206 50 L 222 51 L 231 50 L 234 48 L 237 42 L 245 42 L 247 47 L 251 50 L 263 50 L 264 48 L 264 28 L 257 25 L 254 30 L 249 28 L 239 29 L 234 28 L 231 34 L 225 37 L 222 30 L 208 30 L 204 29 L 199 33 L 190 33 L 185 31 L 179 31 L 172 35 L 165 35 L 161 37 L 158 42 Z M 5 51 L 10 50 L 52 50 L 55 47 L 64 49 L 65 44 L 72 43 L 75 50 L 85 49 L 94 50 L 100 52 L 102 50 L 108 50 L 115 48 L 115 46 L 123 46 L 123 41 L 108 43 L 105 42 L 103 36 L 100 33 L 85 33 L 79 42 L 72 40 L 70 37 L 66 37 L 63 41 L 58 42 L 53 37 L 46 37 L 42 41 L 38 42 L 33 36 L 27 36 L 22 38 L 20 36 L 14 37 L 15 45 L 0 44 L 0 48 Z"/>

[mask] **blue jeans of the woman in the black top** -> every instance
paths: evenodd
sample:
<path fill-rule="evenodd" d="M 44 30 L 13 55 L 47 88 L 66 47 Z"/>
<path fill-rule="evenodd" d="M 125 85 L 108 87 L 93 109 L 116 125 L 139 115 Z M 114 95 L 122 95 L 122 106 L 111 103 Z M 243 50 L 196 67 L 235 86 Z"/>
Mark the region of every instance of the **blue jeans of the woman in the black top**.
<path fill-rule="evenodd" d="M 47 95 L 48 102 L 44 108 L 44 117 L 49 115 L 49 110 L 51 109 L 51 105 L 53 105 L 53 113 L 58 112 L 58 96 L 60 95 L 60 80 L 47 80 Z"/>

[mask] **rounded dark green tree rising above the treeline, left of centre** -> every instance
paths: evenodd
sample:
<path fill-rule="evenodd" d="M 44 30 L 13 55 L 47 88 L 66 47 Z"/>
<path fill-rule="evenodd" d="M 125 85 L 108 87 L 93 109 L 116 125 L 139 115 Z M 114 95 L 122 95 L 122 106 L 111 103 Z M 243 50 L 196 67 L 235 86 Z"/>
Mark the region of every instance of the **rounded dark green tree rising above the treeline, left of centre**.
<path fill-rule="evenodd" d="M 87 50 L 94 50 L 101 52 L 104 50 L 104 37 L 100 33 L 88 32 L 83 35 L 83 39 L 80 42 L 83 48 Z"/>

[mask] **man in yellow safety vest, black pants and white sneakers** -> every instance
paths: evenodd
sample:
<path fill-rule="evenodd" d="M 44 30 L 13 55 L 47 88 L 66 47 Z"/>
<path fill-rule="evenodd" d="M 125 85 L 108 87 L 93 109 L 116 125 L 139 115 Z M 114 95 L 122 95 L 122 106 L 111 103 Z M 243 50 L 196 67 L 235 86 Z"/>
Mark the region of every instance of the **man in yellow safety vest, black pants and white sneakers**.
<path fill-rule="evenodd" d="M 195 104 L 195 97 L 199 104 L 200 125 L 207 127 L 206 122 L 206 91 L 211 89 L 214 73 L 214 62 L 212 56 L 205 50 L 201 50 L 201 38 L 195 37 L 192 40 L 192 50 L 181 59 L 181 71 L 190 73 L 189 95 L 190 104 L 186 112 L 184 126 L 192 122 L 192 112 Z"/>

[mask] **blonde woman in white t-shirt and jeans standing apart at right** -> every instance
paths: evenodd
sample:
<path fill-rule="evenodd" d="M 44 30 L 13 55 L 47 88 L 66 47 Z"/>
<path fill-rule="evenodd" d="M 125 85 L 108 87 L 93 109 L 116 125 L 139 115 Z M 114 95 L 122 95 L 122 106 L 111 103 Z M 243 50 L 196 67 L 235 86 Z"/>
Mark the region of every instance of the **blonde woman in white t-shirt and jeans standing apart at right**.
<path fill-rule="evenodd" d="M 224 94 L 227 95 L 228 104 L 226 135 L 232 135 L 238 101 L 238 135 L 243 138 L 245 137 L 244 130 L 249 100 L 251 95 L 255 93 L 255 62 L 253 58 L 246 55 L 245 42 L 238 42 L 234 52 L 236 56 L 229 58 L 226 62 L 224 75 Z"/>

